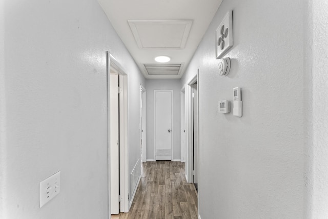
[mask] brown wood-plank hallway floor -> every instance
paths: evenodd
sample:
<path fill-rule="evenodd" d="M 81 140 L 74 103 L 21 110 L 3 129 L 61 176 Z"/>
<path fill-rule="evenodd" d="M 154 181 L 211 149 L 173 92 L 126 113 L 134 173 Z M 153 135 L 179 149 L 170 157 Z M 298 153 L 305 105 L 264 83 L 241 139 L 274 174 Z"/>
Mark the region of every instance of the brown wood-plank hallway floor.
<path fill-rule="evenodd" d="M 197 193 L 185 178 L 185 164 L 171 161 L 147 162 L 129 213 L 112 218 L 198 218 Z"/>

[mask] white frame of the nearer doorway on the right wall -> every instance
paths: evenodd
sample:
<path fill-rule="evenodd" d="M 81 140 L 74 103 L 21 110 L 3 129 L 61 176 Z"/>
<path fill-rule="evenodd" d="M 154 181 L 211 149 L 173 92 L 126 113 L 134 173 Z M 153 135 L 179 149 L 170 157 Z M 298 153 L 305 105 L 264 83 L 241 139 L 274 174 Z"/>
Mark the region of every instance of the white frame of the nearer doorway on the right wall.
<path fill-rule="evenodd" d="M 186 111 L 187 111 L 187 162 L 186 162 L 186 180 L 188 183 L 193 183 L 193 101 L 192 101 L 192 86 L 196 82 L 198 83 L 198 75 L 199 69 L 197 70 L 197 74 L 190 79 L 190 81 L 186 85 Z M 199 188 L 199 84 L 198 84 L 198 129 L 197 129 L 197 144 L 198 144 L 198 188 Z"/>

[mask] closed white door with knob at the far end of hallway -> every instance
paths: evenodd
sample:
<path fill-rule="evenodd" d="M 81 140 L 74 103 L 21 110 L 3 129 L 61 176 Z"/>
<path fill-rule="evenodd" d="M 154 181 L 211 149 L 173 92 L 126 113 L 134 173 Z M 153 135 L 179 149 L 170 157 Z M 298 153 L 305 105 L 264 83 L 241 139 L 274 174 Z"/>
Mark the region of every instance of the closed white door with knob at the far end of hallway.
<path fill-rule="evenodd" d="M 154 91 L 155 160 L 172 160 L 173 91 Z"/>

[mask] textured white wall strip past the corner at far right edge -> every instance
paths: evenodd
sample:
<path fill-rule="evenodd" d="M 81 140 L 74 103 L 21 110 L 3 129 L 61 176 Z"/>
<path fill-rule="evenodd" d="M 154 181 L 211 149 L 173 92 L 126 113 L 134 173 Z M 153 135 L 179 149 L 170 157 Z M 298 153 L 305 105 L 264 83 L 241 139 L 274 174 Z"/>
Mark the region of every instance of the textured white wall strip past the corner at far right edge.
<path fill-rule="evenodd" d="M 312 1 L 313 218 L 328 218 L 328 2 Z"/>

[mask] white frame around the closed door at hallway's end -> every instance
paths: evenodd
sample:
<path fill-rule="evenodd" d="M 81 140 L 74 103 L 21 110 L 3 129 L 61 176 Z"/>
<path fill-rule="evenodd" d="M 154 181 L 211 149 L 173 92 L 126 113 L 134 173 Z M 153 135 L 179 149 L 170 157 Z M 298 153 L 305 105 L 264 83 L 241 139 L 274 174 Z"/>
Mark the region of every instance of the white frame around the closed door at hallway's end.
<path fill-rule="evenodd" d="M 171 161 L 173 161 L 174 150 L 174 92 L 173 90 L 154 90 L 154 161 L 156 161 L 156 93 L 157 92 L 170 92 L 171 93 Z"/>

